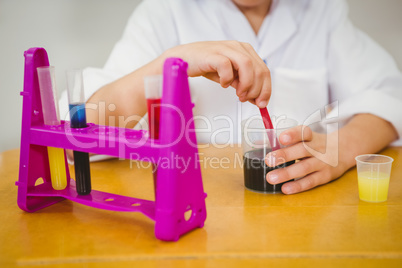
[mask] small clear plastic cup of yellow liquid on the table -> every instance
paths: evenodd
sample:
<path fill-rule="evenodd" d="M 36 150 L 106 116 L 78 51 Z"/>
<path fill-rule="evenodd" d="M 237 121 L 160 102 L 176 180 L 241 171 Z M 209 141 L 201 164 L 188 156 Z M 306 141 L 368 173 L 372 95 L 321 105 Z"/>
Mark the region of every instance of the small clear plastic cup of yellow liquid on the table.
<path fill-rule="evenodd" d="M 379 154 L 359 155 L 355 159 L 360 200 L 373 203 L 387 201 L 394 159 Z"/>

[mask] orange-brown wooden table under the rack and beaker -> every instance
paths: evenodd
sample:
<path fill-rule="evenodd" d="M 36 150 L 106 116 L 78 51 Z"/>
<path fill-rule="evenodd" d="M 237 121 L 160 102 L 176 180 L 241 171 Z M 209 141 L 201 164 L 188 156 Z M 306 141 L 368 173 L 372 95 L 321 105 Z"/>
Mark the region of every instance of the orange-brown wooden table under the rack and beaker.
<path fill-rule="evenodd" d="M 381 153 L 395 159 L 388 201 L 366 203 L 358 198 L 356 169 L 308 192 L 258 194 L 243 186 L 239 148 L 201 149 L 206 224 L 163 242 L 139 213 L 67 200 L 23 212 L 14 185 L 19 151 L 6 151 L 0 267 L 402 267 L 402 148 Z M 150 168 L 139 162 L 92 163 L 91 173 L 93 189 L 153 199 Z"/>

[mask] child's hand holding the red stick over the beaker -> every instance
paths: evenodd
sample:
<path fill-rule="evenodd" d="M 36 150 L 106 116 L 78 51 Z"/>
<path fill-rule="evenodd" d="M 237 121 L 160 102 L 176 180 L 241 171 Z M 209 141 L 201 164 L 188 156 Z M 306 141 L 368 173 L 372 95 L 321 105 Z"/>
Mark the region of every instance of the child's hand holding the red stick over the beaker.
<path fill-rule="evenodd" d="M 163 57 L 180 57 L 188 62 L 189 76 L 204 76 L 222 87 L 232 86 L 240 101 L 260 108 L 271 96 L 271 75 L 267 65 L 248 43 L 207 41 L 181 45 Z"/>

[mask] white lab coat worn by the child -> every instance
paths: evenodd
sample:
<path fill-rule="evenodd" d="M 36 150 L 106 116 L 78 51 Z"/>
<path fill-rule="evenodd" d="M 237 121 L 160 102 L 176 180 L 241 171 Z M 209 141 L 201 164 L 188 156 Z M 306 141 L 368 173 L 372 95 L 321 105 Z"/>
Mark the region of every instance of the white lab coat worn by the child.
<path fill-rule="evenodd" d="M 391 122 L 401 137 L 402 75 L 347 14 L 345 0 L 276 0 L 255 35 L 231 0 L 144 0 L 104 68 L 84 71 L 86 97 L 172 46 L 238 40 L 268 63 L 271 116 L 332 131 L 354 114 L 372 113 Z M 190 78 L 190 87 L 198 141 L 240 142 L 240 120 L 257 114 L 257 107 L 202 77 Z"/>

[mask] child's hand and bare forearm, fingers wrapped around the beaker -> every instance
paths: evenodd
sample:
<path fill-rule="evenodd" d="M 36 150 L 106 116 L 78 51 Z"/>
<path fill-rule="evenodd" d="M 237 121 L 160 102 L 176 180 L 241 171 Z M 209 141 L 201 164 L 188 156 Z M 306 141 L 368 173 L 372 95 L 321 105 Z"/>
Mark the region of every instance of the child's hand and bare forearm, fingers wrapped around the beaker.
<path fill-rule="evenodd" d="M 376 131 L 373 131 L 376 126 Z M 355 115 L 345 126 L 330 134 L 298 126 L 284 131 L 279 141 L 288 147 L 267 154 L 265 162 L 274 167 L 299 159 L 293 165 L 267 174 L 271 184 L 282 186 L 285 194 L 295 194 L 328 183 L 356 164 L 360 154 L 376 153 L 398 138 L 388 121 L 372 114 Z"/>

